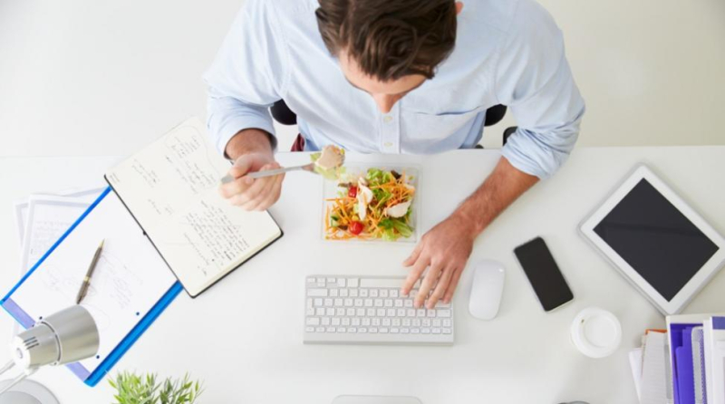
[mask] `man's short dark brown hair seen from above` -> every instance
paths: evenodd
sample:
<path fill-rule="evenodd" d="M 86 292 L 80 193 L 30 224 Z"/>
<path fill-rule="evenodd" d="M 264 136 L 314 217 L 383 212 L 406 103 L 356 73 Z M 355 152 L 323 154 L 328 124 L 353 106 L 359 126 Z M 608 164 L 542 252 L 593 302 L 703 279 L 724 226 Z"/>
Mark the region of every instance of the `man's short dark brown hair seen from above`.
<path fill-rule="evenodd" d="M 429 79 L 456 42 L 455 0 L 319 0 L 315 11 L 330 53 L 344 49 L 383 82 Z"/>

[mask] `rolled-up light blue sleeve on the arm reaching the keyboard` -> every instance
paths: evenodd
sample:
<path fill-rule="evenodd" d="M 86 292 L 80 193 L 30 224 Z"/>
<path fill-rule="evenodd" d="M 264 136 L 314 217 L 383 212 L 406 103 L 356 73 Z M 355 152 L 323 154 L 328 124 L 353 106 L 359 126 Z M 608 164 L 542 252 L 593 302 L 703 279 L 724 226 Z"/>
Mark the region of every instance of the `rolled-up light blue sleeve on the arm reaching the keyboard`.
<path fill-rule="evenodd" d="M 548 178 L 574 149 L 585 102 L 566 62 L 563 35 L 543 7 L 522 0 L 509 33 L 495 86 L 518 129 L 502 154 L 515 168 Z"/>

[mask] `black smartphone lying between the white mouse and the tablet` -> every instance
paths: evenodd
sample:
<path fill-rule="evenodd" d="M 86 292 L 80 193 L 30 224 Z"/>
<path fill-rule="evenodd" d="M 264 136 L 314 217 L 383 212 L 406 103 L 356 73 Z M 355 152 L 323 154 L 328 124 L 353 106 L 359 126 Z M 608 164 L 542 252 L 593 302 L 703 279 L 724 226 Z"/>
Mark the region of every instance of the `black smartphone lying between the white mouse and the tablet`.
<path fill-rule="evenodd" d="M 544 311 L 551 312 L 574 300 L 574 294 L 566 284 L 564 274 L 559 270 L 559 265 L 556 265 L 544 239 L 536 237 L 524 245 L 519 245 L 514 249 L 514 254 L 524 268 L 528 282 L 534 287 Z"/>

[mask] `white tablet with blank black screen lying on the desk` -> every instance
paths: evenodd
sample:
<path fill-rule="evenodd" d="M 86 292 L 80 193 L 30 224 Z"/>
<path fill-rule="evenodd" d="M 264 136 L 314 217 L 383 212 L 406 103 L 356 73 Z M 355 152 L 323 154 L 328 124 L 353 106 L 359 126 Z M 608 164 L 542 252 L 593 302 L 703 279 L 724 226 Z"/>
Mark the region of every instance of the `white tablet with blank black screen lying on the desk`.
<path fill-rule="evenodd" d="M 680 313 L 725 262 L 725 238 L 644 165 L 579 230 L 664 314 Z"/>

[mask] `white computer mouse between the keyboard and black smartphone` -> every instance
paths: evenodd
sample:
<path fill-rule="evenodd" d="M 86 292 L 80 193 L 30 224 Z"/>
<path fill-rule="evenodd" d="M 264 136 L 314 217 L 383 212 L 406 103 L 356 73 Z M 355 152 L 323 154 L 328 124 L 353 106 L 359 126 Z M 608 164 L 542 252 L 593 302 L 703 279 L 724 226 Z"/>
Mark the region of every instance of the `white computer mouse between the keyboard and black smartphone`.
<path fill-rule="evenodd" d="M 469 312 L 480 320 L 493 320 L 504 293 L 504 265 L 491 260 L 480 261 L 473 269 Z"/>

